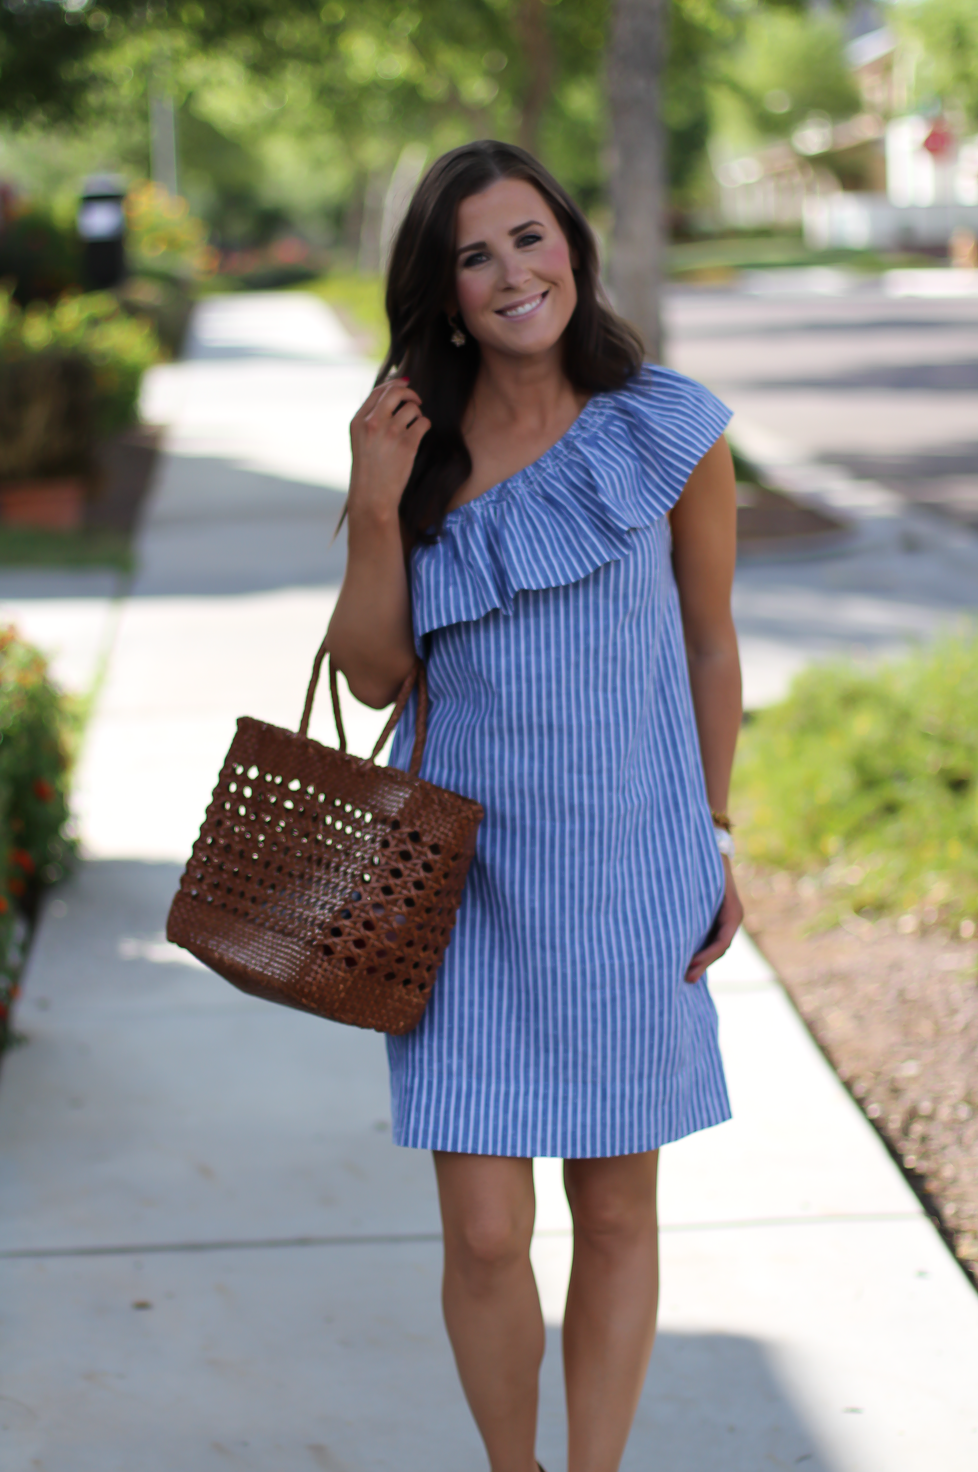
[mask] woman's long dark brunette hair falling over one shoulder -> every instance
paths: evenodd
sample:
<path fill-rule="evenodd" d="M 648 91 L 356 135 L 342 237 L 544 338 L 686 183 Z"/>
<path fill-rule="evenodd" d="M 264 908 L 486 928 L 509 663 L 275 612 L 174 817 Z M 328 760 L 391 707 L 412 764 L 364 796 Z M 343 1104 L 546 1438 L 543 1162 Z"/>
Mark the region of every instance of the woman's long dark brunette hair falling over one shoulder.
<path fill-rule="evenodd" d="M 642 364 L 642 342 L 608 306 L 598 247 L 583 213 L 538 160 L 510 143 L 467 143 L 442 155 L 421 180 L 398 230 L 387 271 L 390 347 L 377 383 L 395 369 L 421 396 L 432 428 L 401 498 L 409 540 L 437 534 L 448 503 L 471 474 L 461 422 L 479 372 L 479 343 L 451 342 L 446 303 L 455 294 L 455 216 L 496 180 L 526 180 L 552 209 L 570 246 L 577 306 L 564 330 L 564 372 L 579 393 L 620 389 Z"/>

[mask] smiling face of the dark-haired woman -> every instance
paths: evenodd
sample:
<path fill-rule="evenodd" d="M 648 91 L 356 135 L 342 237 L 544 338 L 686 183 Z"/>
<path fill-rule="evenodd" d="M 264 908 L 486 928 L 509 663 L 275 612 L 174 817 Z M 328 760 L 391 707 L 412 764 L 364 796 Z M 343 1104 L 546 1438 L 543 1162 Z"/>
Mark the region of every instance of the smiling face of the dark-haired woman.
<path fill-rule="evenodd" d="M 526 180 L 496 180 L 458 206 L 455 294 L 465 331 L 507 356 L 539 356 L 561 339 L 577 287 L 557 218 Z"/>

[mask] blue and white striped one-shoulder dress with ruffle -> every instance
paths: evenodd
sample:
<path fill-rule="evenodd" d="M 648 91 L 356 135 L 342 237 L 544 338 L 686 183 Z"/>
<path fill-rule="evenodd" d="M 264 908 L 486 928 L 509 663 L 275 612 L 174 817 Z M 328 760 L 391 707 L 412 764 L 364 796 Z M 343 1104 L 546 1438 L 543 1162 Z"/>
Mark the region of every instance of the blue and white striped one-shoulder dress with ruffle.
<path fill-rule="evenodd" d="M 644 368 L 411 556 L 421 776 L 486 810 L 393 1138 L 480 1156 L 654 1150 L 729 1117 L 707 982 L 713 838 L 667 512 L 729 411 Z M 408 707 L 390 764 L 407 768 Z"/>

